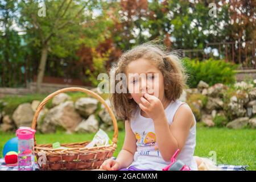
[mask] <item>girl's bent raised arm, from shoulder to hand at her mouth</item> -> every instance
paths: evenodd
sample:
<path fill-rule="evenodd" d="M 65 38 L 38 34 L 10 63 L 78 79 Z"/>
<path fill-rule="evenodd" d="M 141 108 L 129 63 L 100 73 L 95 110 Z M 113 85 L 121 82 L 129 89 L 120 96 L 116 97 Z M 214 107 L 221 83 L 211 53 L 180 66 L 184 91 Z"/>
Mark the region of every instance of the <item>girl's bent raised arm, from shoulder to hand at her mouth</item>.
<path fill-rule="evenodd" d="M 156 142 L 162 158 L 170 162 L 172 155 L 179 148 L 182 150 L 187 140 L 189 129 L 194 119 L 190 107 L 182 104 L 176 111 L 172 124 L 168 125 L 164 107 L 159 98 L 144 94 L 139 107 L 152 118 L 155 126 Z"/>

